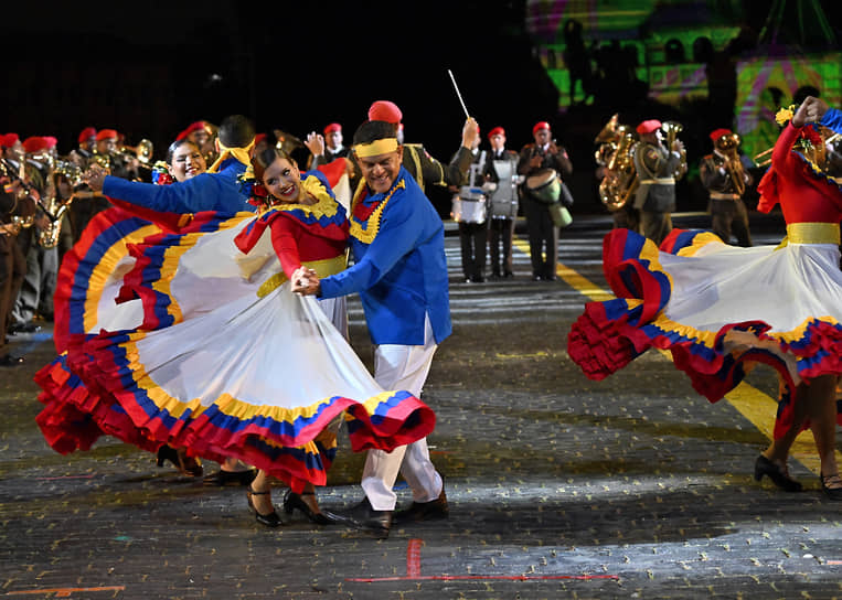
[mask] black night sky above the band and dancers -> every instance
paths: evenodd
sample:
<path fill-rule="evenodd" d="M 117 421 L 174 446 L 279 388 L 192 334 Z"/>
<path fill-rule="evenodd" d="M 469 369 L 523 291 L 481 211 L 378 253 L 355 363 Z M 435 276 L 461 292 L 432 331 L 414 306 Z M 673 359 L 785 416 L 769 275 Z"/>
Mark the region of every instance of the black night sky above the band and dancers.
<path fill-rule="evenodd" d="M 745 24 L 758 30 L 770 4 L 744 2 Z M 796 1 L 788 4 L 796 10 Z M 822 4 L 842 39 L 842 2 Z M 535 121 L 548 120 L 574 168 L 589 173 L 594 136 L 615 111 L 629 119 L 675 116 L 691 128 L 704 122 L 705 106 L 680 115 L 622 93 L 558 113 L 525 10 L 525 0 L 15 2 L 3 15 L 0 132 L 52 135 L 66 153 L 84 127 L 115 128 L 128 144 L 151 139 L 161 159 L 190 122 L 242 113 L 259 130 L 298 137 L 338 121 L 349 143 L 371 103 L 391 99 L 404 113 L 407 141 L 448 160 L 465 120 L 448 68 L 483 140 L 501 125 L 518 150 L 531 141 Z M 580 176 L 587 186 L 588 175 Z"/>

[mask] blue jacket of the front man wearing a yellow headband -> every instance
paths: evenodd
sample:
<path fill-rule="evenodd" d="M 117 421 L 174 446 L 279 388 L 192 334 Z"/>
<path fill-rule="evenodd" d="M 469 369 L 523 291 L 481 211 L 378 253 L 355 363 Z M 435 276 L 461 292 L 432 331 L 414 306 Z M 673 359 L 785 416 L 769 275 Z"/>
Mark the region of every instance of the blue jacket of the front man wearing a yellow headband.
<path fill-rule="evenodd" d="M 322 279 L 321 297 L 359 292 L 375 344 L 423 345 L 427 314 L 440 344 L 452 331 L 445 227 L 403 167 L 392 190 L 376 236 L 371 244 L 351 237 L 354 265 Z M 370 208 L 387 196 L 365 197 L 362 207 Z M 354 224 L 365 228 L 365 222 L 355 215 L 351 215 L 351 223 L 352 236 Z"/>

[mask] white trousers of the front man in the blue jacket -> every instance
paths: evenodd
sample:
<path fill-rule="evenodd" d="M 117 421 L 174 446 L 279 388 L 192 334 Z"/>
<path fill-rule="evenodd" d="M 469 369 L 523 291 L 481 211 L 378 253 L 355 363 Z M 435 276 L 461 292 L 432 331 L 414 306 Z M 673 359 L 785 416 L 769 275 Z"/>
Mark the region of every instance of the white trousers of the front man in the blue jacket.
<path fill-rule="evenodd" d="M 375 349 L 374 379 L 383 389 L 405 389 L 420 397 L 436 347 L 427 318 L 423 346 L 381 344 Z M 397 495 L 392 488 L 398 471 L 409 484 L 415 502 L 429 502 L 441 493 L 441 475 L 429 460 L 427 438 L 395 448 L 392 452 L 369 450 L 362 488 L 375 511 L 395 510 Z"/>

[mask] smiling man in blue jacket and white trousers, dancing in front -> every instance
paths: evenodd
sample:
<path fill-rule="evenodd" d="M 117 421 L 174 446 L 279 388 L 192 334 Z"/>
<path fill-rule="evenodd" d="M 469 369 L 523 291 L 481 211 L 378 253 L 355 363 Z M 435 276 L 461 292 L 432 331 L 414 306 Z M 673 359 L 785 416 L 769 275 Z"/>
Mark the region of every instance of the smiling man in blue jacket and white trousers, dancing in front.
<path fill-rule="evenodd" d="M 350 218 L 354 265 L 323 279 L 312 269 L 299 269 L 292 291 L 321 298 L 359 292 L 375 344 L 375 381 L 384 389 L 406 389 L 417 396 L 438 344 L 451 332 L 444 224 L 402 167 L 405 153 L 395 127 L 381 120 L 364 122 L 353 141 L 364 179 Z M 444 482 L 424 438 L 392 452 L 369 450 L 362 476 L 365 499 L 350 512 L 332 516 L 388 536 L 398 470 L 414 502 L 395 518 L 448 515 Z"/>

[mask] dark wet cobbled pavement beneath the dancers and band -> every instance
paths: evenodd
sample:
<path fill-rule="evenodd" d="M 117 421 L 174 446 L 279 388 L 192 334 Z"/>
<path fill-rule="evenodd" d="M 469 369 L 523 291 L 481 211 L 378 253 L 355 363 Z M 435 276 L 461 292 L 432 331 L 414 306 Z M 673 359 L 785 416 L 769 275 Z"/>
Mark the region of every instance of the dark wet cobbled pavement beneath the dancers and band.
<path fill-rule="evenodd" d="M 561 240 L 564 268 L 597 290 L 608 227 L 577 217 Z M 755 228 L 756 243 L 781 237 L 775 219 Z M 566 338 L 594 289 L 531 281 L 521 229 L 515 278 L 486 283 L 461 282 L 458 237 L 447 237 L 455 331 L 424 399 L 450 518 L 385 540 L 300 513 L 267 529 L 243 488 L 203 486 L 114 439 L 53 452 L 32 383 L 54 355 L 50 326 L 14 338 L 26 362 L 0 371 L 0 597 L 842 598 L 842 503 L 822 496 L 812 444 L 790 464 L 806 490 L 787 494 L 753 479 L 770 411 L 758 421 L 728 399 L 710 404 L 651 351 L 588 381 Z M 350 317 L 370 365 L 356 300 Z M 763 407 L 777 384 L 764 368 L 746 389 Z M 323 507 L 362 497 L 362 460 L 340 436 Z"/>

